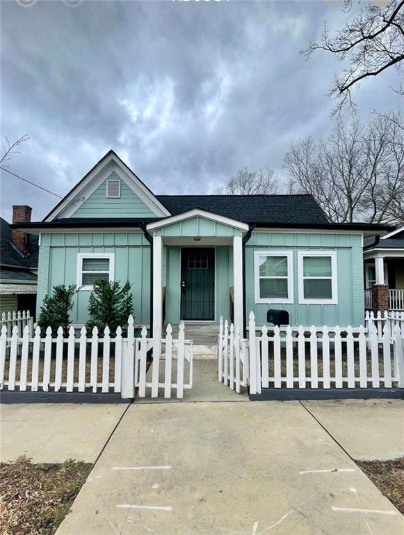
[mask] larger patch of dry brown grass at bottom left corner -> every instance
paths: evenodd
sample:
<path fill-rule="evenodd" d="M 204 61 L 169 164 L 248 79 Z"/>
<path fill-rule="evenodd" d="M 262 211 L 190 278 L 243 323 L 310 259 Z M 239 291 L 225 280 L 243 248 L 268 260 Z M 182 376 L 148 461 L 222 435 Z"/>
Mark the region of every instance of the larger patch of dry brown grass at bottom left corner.
<path fill-rule="evenodd" d="M 26 457 L 0 463 L 0 535 L 53 535 L 91 469 L 72 459 L 60 465 Z"/>

